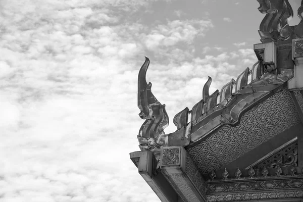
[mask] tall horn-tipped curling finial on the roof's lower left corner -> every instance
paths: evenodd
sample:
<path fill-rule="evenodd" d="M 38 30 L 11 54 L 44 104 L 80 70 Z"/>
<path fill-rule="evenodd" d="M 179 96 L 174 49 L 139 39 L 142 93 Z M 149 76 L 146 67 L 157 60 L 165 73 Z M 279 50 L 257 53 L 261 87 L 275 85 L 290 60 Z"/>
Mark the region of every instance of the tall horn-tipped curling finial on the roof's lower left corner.
<path fill-rule="evenodd" d="M 168 115 L 165 105 L 161 105 L 151 92 L 151 83 L 146 82 L 146 71 L 149 66 L 149 59 L 145 57 L 145 62 L 140 68 L 138 75 L 138 108 L 140 118 L 145 122 L 139 130 L 138 141 L 141 150 L 155 151 L 156 158 L 160 158 L 159 149 L 165 142 L 164 128 L 168 126 Z"/>

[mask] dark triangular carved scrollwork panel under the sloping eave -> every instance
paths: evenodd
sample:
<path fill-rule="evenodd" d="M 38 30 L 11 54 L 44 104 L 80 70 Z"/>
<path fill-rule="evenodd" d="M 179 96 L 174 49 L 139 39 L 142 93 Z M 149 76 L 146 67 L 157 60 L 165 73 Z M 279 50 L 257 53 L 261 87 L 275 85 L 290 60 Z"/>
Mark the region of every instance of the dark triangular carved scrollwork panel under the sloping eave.
<path fill-rule="evenodd" d="M 282 150 L 278 151 L 274 155 L 260 162 L 254 169 L 263 168 L 274 168 L 275 166 L 279 167 L 291 167 L 297 166 L 297 154 L 298 154 L 298 143 L 297 141 L 289 144 L 284 147 Z"/>

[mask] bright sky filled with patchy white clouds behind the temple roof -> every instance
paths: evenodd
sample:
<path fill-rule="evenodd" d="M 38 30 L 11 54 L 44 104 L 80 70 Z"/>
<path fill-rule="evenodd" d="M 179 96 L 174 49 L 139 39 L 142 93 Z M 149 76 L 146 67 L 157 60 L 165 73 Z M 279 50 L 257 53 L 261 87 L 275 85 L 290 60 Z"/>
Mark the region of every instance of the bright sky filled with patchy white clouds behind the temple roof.
<path fill-rule="evenodd" d="M 298 8 L 299 1 L 290 1 Z M 256 60 L 257 1 L 1 0 L 0 201 L 160 201 L 137 173 L 137 74 L 172 118 Z M 296 9 L 294 9 L 296 13 Z M 294 18 L 293 22 L 297 20 Z"/>

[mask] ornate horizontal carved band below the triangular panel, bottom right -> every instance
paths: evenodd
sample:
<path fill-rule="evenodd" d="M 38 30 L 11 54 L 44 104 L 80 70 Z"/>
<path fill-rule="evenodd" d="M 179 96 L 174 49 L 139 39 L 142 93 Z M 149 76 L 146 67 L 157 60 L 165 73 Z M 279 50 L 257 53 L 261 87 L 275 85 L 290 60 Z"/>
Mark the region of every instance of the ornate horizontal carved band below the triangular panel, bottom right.
<path fill-rule="evenodd" d="M 207 183 L 208 201 L 303 197 L 303 175 L 214 180 Z"/>

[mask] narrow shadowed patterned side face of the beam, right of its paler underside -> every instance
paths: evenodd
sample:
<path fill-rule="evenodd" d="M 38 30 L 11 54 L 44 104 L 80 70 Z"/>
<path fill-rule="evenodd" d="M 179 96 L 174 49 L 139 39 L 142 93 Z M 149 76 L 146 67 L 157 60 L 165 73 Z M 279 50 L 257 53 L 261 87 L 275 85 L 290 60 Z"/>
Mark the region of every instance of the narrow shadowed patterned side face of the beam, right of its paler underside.
<path fill-rule="evenodd" d="M 191 157 L 186 155 L 186 175 L 200 192 L 200 194 L 206 199 L 206 181 L 200 174 L 196 165 L 192 161 Z"/>

